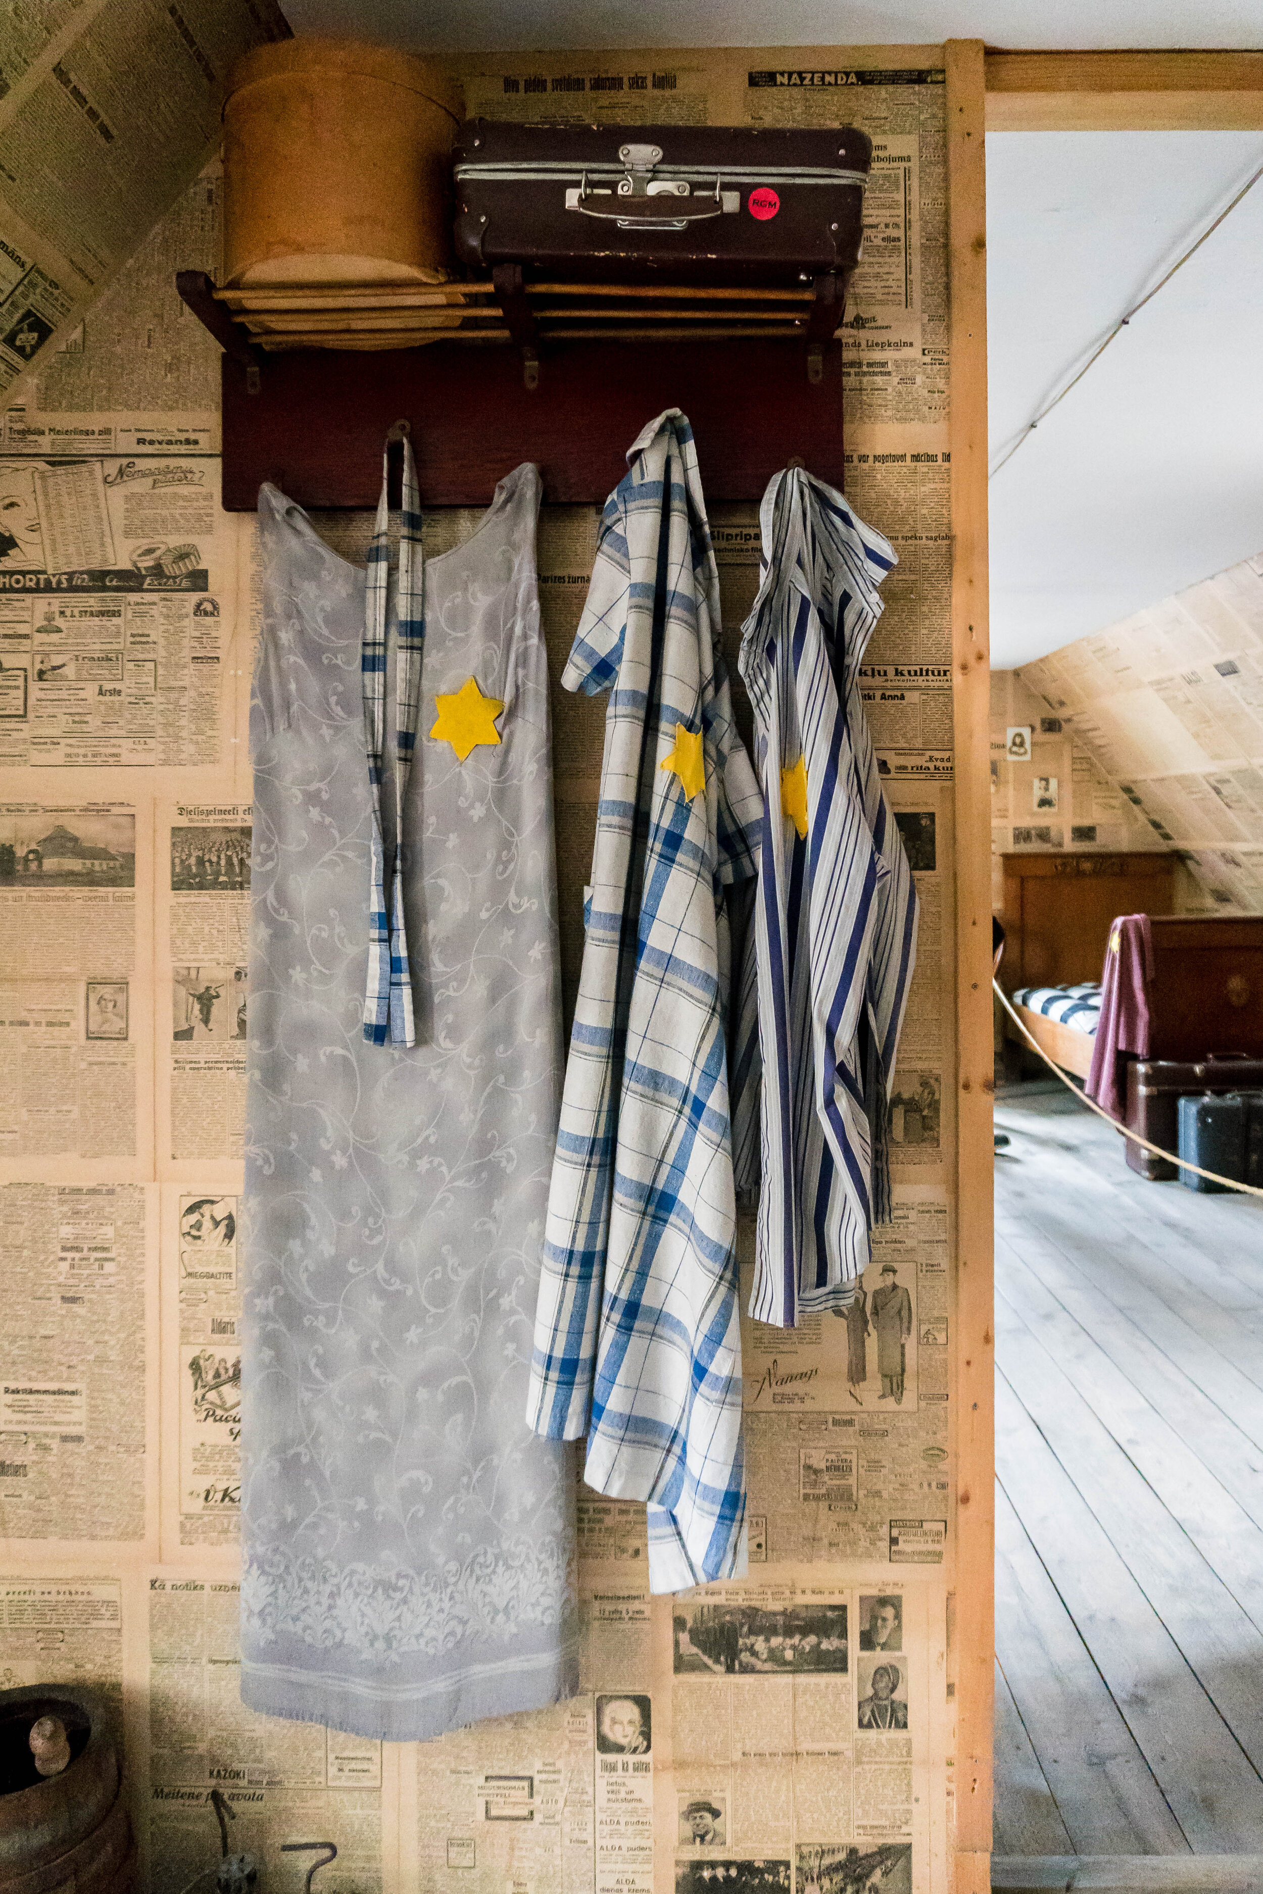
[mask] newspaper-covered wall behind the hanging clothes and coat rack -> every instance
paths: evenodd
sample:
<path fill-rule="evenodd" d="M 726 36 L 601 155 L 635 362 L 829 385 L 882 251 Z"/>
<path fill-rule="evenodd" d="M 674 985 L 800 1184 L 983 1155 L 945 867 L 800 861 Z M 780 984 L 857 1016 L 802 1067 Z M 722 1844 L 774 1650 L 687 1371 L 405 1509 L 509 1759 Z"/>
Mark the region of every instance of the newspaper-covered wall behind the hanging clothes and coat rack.
<path fill-rule="evenodd" d="M 651 1599 L 644 1508 L 579 1487 L 587 1638 L 572 1703 L 424 1746 L 242 1710 L 237 1231 L 258 585 L 252 521 L 216 500 L 218 356 L 170 290 L 174 267 L 214 261 L 220 186 L 197 178 L 72 345 L 42 354 L 0 432 L 13 542 L 0 551 L 0 928 L 17 953 L 15 985 L 0 989 L 13 1055 L 0 1241 L 15 1284 L 0 1311 L 0 1676 L 121 1691 L 144 1885 L 161 1894 L 218 1856 L 212 1790 L 233 1811 L 233 1847 L 261 1854 L 284 1894 L 312 1856 L 280 1845 L 322 1839 L 339 1847 L 326 1894 L 947 1894 L 956 1049 L 941 49 L 496 55 L 470 63 L 466 97 L 494 116 L 854 121 L 873 134 L 845 326 L 846 485 L 899 555 L 863 691 L 922 905 L 892 1099 L 894 1220 L 846 1316 L 744 1326 L 748 1580 Z M 136 350 L 136 333 L 153 347 Z M 428 513 L 428 549 L 479 517 Z M 367 515 L 316 527 L 364 557 Z M 566 1011 L 604 701 L 557 678 L 595 536 L 595 508 L 545 508 Z M 716 509 L 714 536 L 735 672 L 757 509 Z M 740 1258 L 748 1275 L 748 1218 Z"/>

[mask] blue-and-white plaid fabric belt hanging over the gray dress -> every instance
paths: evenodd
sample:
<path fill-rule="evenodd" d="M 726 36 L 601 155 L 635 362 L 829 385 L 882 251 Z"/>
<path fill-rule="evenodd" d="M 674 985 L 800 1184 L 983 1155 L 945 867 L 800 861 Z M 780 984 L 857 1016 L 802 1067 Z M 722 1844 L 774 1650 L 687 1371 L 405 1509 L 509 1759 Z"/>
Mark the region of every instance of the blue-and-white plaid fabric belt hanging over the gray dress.
<path fill-rule="evenodd" d="M 400 576 L 396 585 L 396 693 L 394 693 L 394 852 L 390 905 L 386 905 L 386 850 L 382 843 L 382 775 L 386 737 L 386 657 L 390 627 L 390 511 L 386 502 L 390 447 L 382 453 L 381 500 L 364 599 L 364 727 L 367 731 L 369 788 L 373 794 L 373 845 L 369 856 L 369 970 L 364 994 L 364 1038 L 373 1045 L 392 1040 L 415 1045 L 413 983 L 403 924 L 403 792 L 417 748 L 420 710 L 420 652 L 426 638 L 424 559 L 420 549 L 420 492 L 413 443 L 403 438 L 403 511 L 400 517 Z"/>

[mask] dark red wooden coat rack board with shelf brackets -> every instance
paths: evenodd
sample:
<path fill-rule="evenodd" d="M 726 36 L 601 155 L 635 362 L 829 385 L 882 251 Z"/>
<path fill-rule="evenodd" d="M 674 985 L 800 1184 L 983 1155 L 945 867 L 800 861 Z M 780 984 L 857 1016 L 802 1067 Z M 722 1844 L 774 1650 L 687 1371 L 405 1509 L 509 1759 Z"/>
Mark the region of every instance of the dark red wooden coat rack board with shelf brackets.
<path fill-rule="evenodd" d="M 740 324 L 699 335 L 704 326 L 693 324 L 576 339 L 549 333 L 521 282 L 506 280 L 490 286 L 500 335 L 400 348 L 265 348 L 206 275 L 180 271 L 176 286 L 223 348 L 229 511 L 254 511 L 263 481 L 305 508 L 375 506 L 382 441 L 400 415 L 411 420 L 426 506 L 485 506 L 521 460 L 540 464 L 547 500 L 600 504 L 627 447 L 665 407 L 693 422 L 712 502 L 761 498 L 792 456 L 843 487 L 841 309 L 820 284 L 792 292 L 792 316 L 771 324 L 780 333 Z"/>

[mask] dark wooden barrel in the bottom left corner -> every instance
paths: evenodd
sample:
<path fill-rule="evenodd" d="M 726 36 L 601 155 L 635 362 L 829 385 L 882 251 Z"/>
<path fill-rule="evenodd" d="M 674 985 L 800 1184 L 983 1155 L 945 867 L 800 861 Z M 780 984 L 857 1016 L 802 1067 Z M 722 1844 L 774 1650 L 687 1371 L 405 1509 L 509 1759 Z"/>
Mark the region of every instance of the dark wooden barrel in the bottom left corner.
<path fill-rule="evenodd" d="M 40 1716 L 59 1716 L 70 1737 L 70 1763 L 55 1777 L 40 1777 L 30 1756 L 30 1725 Z M 100 1697 L 70 1684 L 0 1691 L 0 1894 L 44 1894 L 74 1881 L 74 1869 L 57 1881 L 38 1877 L 80 1845 L 89 1862 L 100 1830 L 117 1850 L 119 1820 L 127 1826 L 117 1794 L 119 1750 Z M 125 1854 L 123 1847 L 114 1864 Z M 100 1894 L 110 1886 L 102 1881 Z"/>

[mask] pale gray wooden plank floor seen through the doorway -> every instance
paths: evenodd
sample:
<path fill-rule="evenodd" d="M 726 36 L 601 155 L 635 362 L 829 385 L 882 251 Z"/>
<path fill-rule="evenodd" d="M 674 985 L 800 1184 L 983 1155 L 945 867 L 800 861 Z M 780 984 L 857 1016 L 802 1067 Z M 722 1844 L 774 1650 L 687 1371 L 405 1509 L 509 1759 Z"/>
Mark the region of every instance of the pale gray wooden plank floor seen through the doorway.
<path fill-rule="evenodd" d="M 996 1129 L 996 1856 L 1263 1856 L 1263 1201 Z"/>

